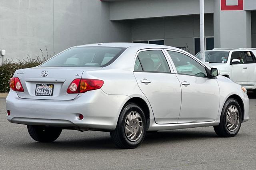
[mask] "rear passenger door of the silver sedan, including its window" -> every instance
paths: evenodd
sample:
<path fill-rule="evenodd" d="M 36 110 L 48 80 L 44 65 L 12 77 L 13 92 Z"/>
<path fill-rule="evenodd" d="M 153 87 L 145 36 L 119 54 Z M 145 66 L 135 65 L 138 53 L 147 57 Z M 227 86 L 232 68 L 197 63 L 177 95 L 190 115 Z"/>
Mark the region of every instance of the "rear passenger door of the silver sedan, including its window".
<path fill-rule="evenodd" d="M 136 55 L 134 76 L 158 124 L 178 123 L 180 114 L 180 83 L 169 64 L 162 49 L 144 49 Z"/>

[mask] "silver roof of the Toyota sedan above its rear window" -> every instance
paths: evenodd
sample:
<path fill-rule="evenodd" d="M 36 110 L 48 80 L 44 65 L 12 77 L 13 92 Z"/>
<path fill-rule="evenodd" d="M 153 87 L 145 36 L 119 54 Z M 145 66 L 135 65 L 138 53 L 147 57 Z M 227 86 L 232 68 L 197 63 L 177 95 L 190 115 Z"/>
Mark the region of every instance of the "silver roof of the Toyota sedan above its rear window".
<path fill-rule="evenodd" d="M 92 46 L 102 46 L 102 47 L 141 47 L 141 48 L 167 48 L 167 49 L 176 49 L 181 50 L 176 47 L 171 47 L 167 45 L 156 45 L 156 44 L 148 44 L 148 43 L 92 43 L 92 44 L 86 44 L 86 45 L 78 45 L 75 47 L 92 47 Z"/>

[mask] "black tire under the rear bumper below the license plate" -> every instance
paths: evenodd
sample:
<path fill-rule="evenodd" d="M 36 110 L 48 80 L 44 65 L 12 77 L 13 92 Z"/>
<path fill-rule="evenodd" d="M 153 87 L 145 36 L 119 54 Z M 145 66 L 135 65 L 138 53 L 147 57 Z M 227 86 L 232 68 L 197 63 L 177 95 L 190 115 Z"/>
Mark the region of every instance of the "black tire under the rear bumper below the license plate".
<path fill-rule="evenodd" d="M 58 127 L 36 125 L 27 125 L 27 127 L 30 136 L 38 142 L 53 142 L 60 136 L 60 133 L 62 132 L 62 129 Z"/>

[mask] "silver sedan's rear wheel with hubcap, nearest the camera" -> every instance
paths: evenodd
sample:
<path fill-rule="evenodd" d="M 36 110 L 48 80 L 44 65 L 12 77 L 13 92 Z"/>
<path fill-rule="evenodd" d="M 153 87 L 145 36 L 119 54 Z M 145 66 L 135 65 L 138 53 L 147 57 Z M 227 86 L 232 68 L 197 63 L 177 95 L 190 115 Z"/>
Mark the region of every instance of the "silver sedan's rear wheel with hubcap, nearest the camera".
<path fill-rule="evenodd" d="M 110 132 L 116 146 L 124 149 L 140 146 L 145 134 L 145 115 L 142 109 L 134 103 L 129 103 L 122 109 L 116 129 Z"/>

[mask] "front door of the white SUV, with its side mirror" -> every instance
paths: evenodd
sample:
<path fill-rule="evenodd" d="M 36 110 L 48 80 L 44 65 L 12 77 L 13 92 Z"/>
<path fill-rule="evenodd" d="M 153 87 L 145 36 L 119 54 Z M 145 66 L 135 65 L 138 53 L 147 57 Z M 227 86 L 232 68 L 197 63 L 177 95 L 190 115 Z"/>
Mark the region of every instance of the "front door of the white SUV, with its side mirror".
<path fill-rule="evenodd" d="M 240 63 L 232 64 L 231 62 L 233 59 L 240 59 Z M 232 81 L 242 86 L 246 85 L 248 79 L 248 67 L 246 67 L 242 51 L 233 51 L 231 53 L 230 67 L 232 72 Z"/>

